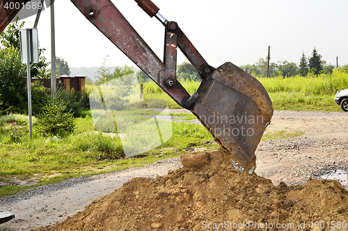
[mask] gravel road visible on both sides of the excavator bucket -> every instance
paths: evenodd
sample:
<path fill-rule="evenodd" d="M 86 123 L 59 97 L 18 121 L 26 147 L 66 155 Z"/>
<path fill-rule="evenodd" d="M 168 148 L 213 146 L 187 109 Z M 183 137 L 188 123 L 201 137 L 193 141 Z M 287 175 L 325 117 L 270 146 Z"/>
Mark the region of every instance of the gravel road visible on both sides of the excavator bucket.
<path fill-rule="evenodd" d="M 303 135 L 260 143 L 255 152 L 255 172 L 274 184 L 281 181 L 302 184 L 310 177 L 338 170 L 347 189 L 347 119 L 348 113 L 344 112 L 275 111 L 267 132 L 303 132 Z M 141 168 L 79 177 L 0 198 L 0 212 L 10 211 L 16 216 L 0 224 L 0 230 L 54 225 L 83 210 L 95 198 L 118 189 L 132 177 L 153 178 L 181 166 L 179 158 L 165 159 Z"/>

